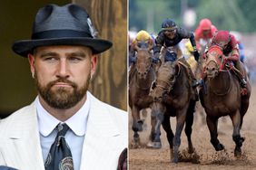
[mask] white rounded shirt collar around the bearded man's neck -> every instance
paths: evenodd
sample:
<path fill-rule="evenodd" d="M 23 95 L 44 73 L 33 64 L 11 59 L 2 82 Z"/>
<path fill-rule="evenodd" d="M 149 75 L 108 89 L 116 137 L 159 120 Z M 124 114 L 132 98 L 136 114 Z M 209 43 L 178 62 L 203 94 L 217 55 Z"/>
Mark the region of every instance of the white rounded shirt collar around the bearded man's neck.
<path fill-rule="evenodd" d="M 87 125 L 87 118 L 90 109 L 90 95 L 86 93 L 86 101 L 81 109 L 79 109 L 73 117 L 67 119 L 65 122 L 61 122 L 57 118 L 54 118 L 50 113 L 48 113 L 41 105 L 39 98 L 35 99 L 36 112 L 38 119 L 39 132 L 44 137 L 49 136 L 54 128 L 59 123 L 66 123 L 68 127 L 72 129 L 75 135 L 84 136 Z"/>

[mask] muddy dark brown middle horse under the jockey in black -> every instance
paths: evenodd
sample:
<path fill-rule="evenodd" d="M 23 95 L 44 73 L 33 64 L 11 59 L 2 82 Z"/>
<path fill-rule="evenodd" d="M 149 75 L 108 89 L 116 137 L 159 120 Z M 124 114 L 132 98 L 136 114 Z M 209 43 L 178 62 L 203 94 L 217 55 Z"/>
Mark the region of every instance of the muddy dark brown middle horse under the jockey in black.
<path fill-rule="evenodd" d="M 192 100 L 191 83 L 184 64 L 180 61 L 162 63 L 157 72 L 156 80 L 153 82 L 153 90 L 150 95 L 153 98 L 152 115 L 156 117 L 153 145 L 161 145 L 160 127 L 162 124 L 170 145 L 171 161 L 177 163 L 182 128 L 185 122 L 189 153 L 193 152 L 191 135 L 196 101 Z M 170 117 L 177 119 L 175 135 L 172 133 Z"/>

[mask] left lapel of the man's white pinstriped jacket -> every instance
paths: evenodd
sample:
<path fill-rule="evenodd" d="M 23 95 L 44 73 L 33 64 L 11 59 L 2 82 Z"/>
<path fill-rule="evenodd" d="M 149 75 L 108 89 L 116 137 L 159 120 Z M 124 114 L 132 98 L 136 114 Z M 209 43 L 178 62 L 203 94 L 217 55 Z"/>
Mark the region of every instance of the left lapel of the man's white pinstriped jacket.
<path fill-rule="evenodd" d="M 3 155 L 7 165 L 18 169 L 44 169 L 34 103 L 25 107 L 10 121 L 11 130 Z"/>

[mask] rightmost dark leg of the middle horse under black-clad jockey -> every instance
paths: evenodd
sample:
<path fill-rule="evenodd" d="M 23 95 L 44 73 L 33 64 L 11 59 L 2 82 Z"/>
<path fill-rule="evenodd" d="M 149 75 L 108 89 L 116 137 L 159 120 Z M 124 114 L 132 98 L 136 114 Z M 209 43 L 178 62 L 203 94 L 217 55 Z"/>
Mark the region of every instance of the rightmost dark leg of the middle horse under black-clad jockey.
<path fill-rule="evenodd" d="M 185 127 L 185 133 L 188 139 L 188 152 L 189 154 L 192 154 L 194 152 L 194 148 L 192 146 L 192 124 L 193 124 L 193 112 L 195 107 L 195 101 L 192 100 L 190 103 L 190 107 L 187 110 L 186 115 L 186 127 Z"/>

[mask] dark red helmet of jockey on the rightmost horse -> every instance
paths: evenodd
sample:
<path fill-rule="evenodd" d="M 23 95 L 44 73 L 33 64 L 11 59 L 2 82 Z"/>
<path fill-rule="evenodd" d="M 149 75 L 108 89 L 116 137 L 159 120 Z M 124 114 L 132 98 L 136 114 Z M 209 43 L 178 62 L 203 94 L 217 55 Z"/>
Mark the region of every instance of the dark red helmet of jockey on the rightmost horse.
<path fill-rule="evenodd" d="M 218 31 L 212 38 L 212 44 L 224 47 L 231 41 L 231 34 L 228 31 Z"/>

